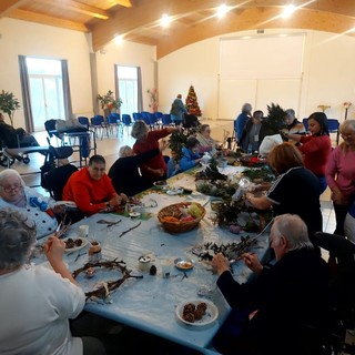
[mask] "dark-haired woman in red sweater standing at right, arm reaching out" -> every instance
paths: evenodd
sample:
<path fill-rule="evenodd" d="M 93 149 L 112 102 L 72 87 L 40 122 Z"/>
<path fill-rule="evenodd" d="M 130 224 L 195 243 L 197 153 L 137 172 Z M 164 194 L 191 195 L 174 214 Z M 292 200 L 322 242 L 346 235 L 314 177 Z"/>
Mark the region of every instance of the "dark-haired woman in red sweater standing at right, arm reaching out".
<path fill-rule="evenodd" d="M 332 153 L 327 118 L 324 112 L 314 112 L 308 118 L 311 135 L 286 134 L 301 143 L 298 150 L 303 154 L 305 168 L 311 170 L 320 181 L 321 194 L 326 189 L 325 169 Z"/>

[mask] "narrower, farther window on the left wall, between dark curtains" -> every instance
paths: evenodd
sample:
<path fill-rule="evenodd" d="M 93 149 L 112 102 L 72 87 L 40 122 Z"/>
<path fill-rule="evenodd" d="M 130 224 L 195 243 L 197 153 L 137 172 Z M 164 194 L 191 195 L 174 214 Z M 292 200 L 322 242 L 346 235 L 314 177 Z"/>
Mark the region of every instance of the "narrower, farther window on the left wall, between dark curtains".
<path fill-rule="evenodd" d="M 122 99 L 121 113 L 132 115 L 138 112 L 138 68 L 116 67 L 116 78 L 119 81 L 119 92 Z"/>

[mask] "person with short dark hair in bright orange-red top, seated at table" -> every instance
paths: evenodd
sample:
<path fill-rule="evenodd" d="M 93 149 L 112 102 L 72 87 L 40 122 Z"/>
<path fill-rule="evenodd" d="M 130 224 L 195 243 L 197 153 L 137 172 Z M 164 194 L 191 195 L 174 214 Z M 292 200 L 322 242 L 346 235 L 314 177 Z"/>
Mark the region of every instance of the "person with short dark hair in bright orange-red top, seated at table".
<path fill-rule="evenodd" d="M 105 160 L 102 155 L 92 155 L 89 166 L 74 172 L 63 190 L 63 200 L 73 201 L 85 215 L 115 210 L 128 197 L 114 191 L 110 178 L 105 174 Z"/>

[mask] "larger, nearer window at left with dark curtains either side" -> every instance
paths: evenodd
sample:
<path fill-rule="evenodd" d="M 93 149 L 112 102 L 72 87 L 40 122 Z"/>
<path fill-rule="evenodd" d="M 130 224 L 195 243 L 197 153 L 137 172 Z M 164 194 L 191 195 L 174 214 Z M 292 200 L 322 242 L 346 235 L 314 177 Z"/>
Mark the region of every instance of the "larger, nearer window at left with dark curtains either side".
<path fill-rule="evenodd" d="M 27 58 L 34 131 L 51 119 L 65 119 L 60 60 Z"/>

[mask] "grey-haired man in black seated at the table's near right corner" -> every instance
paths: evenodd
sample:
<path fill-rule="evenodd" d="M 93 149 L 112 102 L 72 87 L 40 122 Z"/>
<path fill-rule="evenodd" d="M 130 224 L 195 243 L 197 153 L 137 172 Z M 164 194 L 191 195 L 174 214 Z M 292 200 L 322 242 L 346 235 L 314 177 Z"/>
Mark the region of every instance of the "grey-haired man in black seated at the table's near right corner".
<path fill-rule="evenodd" d="M 277 261 L 271 268 L 254 254 L 243 255 L 256 274 L 246 284 L 233 278 L 222 254 L 212 261 L 220 275 L 217 286 L 233 308 L 214 339 L 223 354 L 307 354 L 303 325 L 325 323 L 328 270 L 314 251 L 305 223 L 292 214 L 275 217 L 270 242 Z"/>

